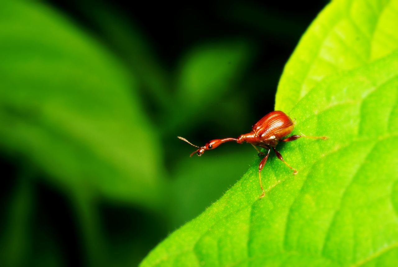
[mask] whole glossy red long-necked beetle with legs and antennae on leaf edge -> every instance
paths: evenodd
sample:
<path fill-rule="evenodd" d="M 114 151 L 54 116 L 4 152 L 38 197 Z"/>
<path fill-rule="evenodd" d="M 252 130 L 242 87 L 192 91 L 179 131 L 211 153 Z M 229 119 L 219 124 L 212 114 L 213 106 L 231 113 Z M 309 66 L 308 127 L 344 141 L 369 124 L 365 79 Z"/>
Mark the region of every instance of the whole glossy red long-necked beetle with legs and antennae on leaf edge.
<path fill-rule="evenodd" d="M 187 139 L 183 137 L 179 137 L 179 139 L 189 143 L 190 145 L 193 145 L 194 147 L 197 147 L 198 149 L 193 151 L 191 153 L 191 157 L 193 154 L 197 154 L 198 156 L 201 156 L 206 150 L 210 149 L 215 149 L 218 147 L 220 144 L 228 142 L 228 141 L 235 141 L 237 143 L 250 143 L 253 145 L 253 147 L 258 151 L 259 156 L 263 156 L 263 159 L 260 161 L 260 164 L 258 166 L 258 176 L 260 180 L 260 187 L 261 190 L 263 191 L 260 199 L 265 195 L 265 191 L 263 189 L 263 185 L 261 184 L 261 170 L 263 169 L 265 162 L 268 159 L 269 152 L 271 151 L 271 148 L 277 155 L 277 157 L 283 161 L 290 169 L 293 170 L 293 174 L 297 174 L 297 171 L 293 169 L 282 157 L 281 153 L 275 149 L 276 145 L 278 144 L 279 141 L 287 142 L 287 141 L 294 141 L 297 140 L 300 137 L 306 137 L 306 138 L 314 138 L 314 139 L 328 139 L 326 136 L 306 136 L 306 135 L 291 135 L 290 137 L 286 137 L 283 139 L 283 137 L 287 136 L 289 133 L 293 131 L 295 123 L 287 116 L 284 112 L 276 110 L 269 112 L 267 115 L 265 115 L 261 120 L 256 122 L 252 126 L 252 132 L 250 133 L 245 133 L 240 135 L 238 138 L 224 138 L 224 139 L 214 139 L 209 142 L 207 142 L 205 145 L 202 147 L 198 147 L 197 145 L 194 145 L 190 143 Z M 261 152 L 258 147 L 264 148 L 265 153 Z"/>

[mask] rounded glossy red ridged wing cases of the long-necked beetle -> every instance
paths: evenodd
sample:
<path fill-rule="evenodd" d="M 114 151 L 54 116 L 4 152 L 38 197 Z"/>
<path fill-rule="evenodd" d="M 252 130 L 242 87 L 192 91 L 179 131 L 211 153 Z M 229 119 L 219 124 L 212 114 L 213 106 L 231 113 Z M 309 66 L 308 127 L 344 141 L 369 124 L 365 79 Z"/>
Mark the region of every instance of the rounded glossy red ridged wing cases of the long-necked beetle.
<path fill-rule="evenodd" d="M 260 139 L 268 139 L 275 135 L 275 139 L 281 139 L 293 131 L 293 121 L 284 112 L 275 110 L 269 112 L 261 120 L 253 125 L 253 132 Z"/>

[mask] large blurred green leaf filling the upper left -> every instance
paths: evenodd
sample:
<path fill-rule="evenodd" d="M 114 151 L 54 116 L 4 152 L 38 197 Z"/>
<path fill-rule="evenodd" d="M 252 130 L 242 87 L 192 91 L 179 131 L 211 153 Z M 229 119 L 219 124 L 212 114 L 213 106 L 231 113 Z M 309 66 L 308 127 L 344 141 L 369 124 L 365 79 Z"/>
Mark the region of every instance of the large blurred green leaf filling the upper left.
<path fill-rule="evenodd" d="M 65 190 L 156 204 L 160 141 L 131 73 L 35 2 L 1 8 L 0 55 L 3 149 L 24 155 Z"/>

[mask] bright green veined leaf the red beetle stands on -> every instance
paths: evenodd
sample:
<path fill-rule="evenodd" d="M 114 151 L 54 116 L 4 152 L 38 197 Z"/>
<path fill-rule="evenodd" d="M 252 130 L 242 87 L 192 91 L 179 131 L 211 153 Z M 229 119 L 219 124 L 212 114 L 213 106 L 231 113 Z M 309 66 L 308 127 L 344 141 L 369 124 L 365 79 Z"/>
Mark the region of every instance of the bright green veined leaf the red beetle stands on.
<path fill-rule="evenodd" d="M 293 176 L 271 156 L 262 171 L 266 194 L 259 200 L 254 165 L 220 200 L 151 251 L 141 266 L 398 264 L 398 51 L 376 42 L 369 48 L 371 59 L 359 64 L 353 51 L 367 47 L 351 40 L 372 23 L 372 36 L 382 36 L 380 24 L 391 12 L 390 20 L 398 25 L 393 4 L 397 1 L 332 2 L 285 68 L 276 106 L 296 118 L 293 134 L 330 137 L 278 146 L 299 173 Z M 382 12 L 375 13 L 378 6 Z M 359 13 L 379 17 L 363 19 L 357 27 L 345 23 Z M 336 27 L 341 38 L 312 42 L 318 50 L 329 49 L 339 70 L 324 70 L 319 80 L 305 78 L 303 69 L 316 72 L 322 59 L 303 44 L 316 32 L 332 36 Z M 394 38 L 383 36 L 385 43 Z"/>

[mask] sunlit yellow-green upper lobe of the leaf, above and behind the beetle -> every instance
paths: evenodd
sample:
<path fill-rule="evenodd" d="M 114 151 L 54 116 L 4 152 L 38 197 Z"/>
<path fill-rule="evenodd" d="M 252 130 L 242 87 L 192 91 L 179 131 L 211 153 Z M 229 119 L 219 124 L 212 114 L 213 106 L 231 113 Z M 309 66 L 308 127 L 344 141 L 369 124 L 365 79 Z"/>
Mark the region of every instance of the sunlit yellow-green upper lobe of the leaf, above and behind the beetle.
<path fill-rule="evenodd" d="M 276 109 L 289 111 L 322 79 L 398 48 L 398 2 L 336 0 L 312 23 L 285 66 Z"/>

